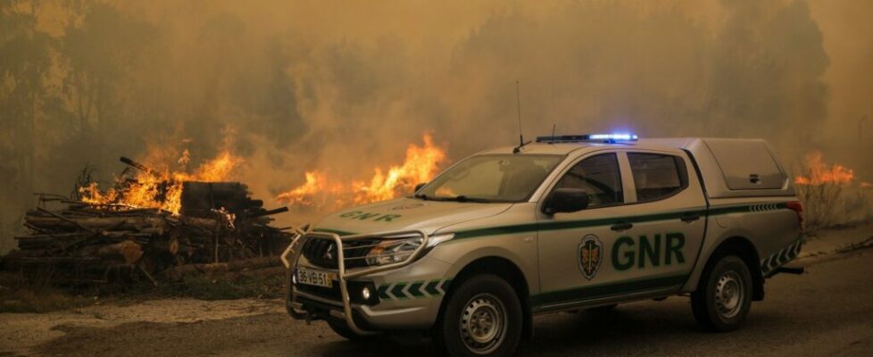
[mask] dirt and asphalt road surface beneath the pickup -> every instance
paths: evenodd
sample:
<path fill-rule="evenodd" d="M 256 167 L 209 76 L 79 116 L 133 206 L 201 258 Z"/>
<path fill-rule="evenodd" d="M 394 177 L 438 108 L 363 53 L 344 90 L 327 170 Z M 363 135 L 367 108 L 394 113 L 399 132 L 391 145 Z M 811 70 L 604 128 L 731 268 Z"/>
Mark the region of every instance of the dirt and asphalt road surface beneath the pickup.
<path fill-rule="evenodd" d="M 869 356 L 873 355 L 873 249 L 834 253 L 873 235 L 870 226 L 811 239 L 807 273 L 769 279 L 745 328 L 697 328 L 688 299 L 628 303 L 605 313 L 535 319 L 520 356 Z M 866 237 L 865 237 L 866 236 Z M 44 314 L 0 315 L 0 356 L 62 355 L 433 355 L 406 336 L 346 342 L 320 322 L 290 320 L 279 300 L 163 300 L 90 306 Z"/>

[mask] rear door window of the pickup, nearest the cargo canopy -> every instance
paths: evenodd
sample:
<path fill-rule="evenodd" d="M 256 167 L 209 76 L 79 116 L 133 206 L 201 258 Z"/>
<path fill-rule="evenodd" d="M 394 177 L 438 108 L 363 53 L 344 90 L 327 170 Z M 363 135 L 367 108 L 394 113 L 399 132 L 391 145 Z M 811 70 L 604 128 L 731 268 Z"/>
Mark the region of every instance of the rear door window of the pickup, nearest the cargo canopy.
<path fill-rule="evenodd" d="M 676 195 L 688 186 L 685 161 L 668 154 L 628 153 L 636 184 L 636 201 L 649 202 Z"/>

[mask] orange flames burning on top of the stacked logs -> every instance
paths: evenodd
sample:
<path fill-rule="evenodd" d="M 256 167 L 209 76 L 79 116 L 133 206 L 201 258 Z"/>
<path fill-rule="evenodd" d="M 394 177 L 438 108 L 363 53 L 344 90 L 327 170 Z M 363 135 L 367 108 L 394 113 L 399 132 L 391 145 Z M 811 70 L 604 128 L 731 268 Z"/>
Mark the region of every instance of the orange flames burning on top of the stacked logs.
<path fill-rule="evenodd" d="M 150 156 L 155 156 L 150 155 Z M 133 178 L 116 178 L 114 187 L 101 190 L 95 182 L 79 187 L 80 200 L 85 203 L 105 204 L 114 207 L 159 208 L 178 215 L 182 209 L 182 184 L 185 181 L 223 181 L 227 180 L 242 159 L 222 151 L 214 159 L 204 162 L 194 172 L 184 167 L 190 161 L 185 150 L 177 162 L 183 169 L 137 170 Z"/>

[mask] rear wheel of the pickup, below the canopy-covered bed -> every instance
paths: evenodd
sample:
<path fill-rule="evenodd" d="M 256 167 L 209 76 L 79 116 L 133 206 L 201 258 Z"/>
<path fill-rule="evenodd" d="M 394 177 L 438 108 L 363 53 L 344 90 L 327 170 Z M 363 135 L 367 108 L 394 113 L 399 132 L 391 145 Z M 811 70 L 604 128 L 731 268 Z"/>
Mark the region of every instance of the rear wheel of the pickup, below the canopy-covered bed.
<path fill-rule="evenodd" d="M 691 295 L 694 319 L 711 331 L 726 332 L 743 326 L 752 307 L 752 273 L 740 257 L 721 257 L 703 271 Z"/>

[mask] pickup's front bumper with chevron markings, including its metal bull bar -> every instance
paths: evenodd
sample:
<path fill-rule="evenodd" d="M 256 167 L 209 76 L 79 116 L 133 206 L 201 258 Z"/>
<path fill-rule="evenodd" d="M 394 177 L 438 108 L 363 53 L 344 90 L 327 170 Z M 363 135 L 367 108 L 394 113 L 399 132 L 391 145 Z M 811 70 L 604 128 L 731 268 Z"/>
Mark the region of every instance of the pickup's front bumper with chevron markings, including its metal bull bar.
<path fill-rule="evenodd" d="M 408 259 L 378 267 L 346 269 L 344 243 L 373 237 L 417 235 L 422 243 Z M 427 328 L 436 320 L 442 295 L 450 279 L 445 274 L 450 266 L 423 256 L 428 235 L 420 230 L 390 232 L 378 235 L 339 237 L 334 233 L 305 232 L 299 234 L 282 254 L 288 268 L 287 311 L 298 320 L 334 320 L 344 322 L 360 335 L 387 329 Z M 311 239 L 326 239 L 337 246 L 337 268 L 312 266 L 303 257 L 303 246 Z M 413 264 L 414 263 L 414 264 Z M 412 265 L 412 266 L 411 266 Z M 335 274 L 333 288 L 315 288 L 295 284 L 298 267 L 328 271 Z M 370 288 L 372 298 L 362 299 L 362 286 Z M 353 290 L 354 289 L 354 290 Z"/>

